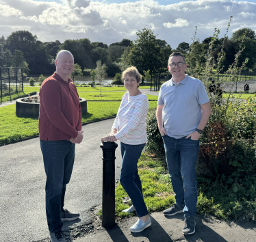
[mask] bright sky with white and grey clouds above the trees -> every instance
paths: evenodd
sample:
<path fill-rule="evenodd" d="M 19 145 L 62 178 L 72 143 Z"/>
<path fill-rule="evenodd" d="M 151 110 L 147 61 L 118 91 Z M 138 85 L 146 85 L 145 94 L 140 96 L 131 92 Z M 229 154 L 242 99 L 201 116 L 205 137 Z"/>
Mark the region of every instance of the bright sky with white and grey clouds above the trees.
<path fill-rule="evenodd" d="M 27 30 L 42 42 L 88 38 L 112 44 L 136 40 L 143 27 L 172 49 L 181 42 L 203 41 L 220 29 L 222 38 L 248 27 L 256 31 L 256 0 L 0 0 L 0 36 Z"/>

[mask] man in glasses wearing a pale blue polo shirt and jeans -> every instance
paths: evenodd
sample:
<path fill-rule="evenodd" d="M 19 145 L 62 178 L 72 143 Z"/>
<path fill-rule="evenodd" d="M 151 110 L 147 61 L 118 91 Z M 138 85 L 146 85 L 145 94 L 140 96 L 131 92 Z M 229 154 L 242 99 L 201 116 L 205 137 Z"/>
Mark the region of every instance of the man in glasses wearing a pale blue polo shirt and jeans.
<path fill-rule="evenodd" d="M 211 108 L 205 86 L 199 79 L 186 75 L 186 68 L 181 53 L 170 55 L 168 70 L 172 79 L 160 89 L 156 115 L 176 200 L 170 209 L 164 211 L 164 215 L 185 213 L 183 234 L 194 234 L 196 159 L 200 135 L 207 124 Z"/>

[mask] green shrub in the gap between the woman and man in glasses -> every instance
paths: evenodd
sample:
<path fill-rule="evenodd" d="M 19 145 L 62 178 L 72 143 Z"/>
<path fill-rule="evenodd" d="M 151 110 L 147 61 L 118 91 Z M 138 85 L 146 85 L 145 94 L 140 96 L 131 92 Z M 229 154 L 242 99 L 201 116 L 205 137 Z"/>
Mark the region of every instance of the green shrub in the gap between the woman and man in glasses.
<path fill-rule="evenodd" d="M 146 117 L 146 134 L 148 136 L 146 150 L 151 153 L 164 155 L 164 142 L 162 135 L 158 130 L 155 111 L 156 108 L 149 109 L 148 116 Z"/>

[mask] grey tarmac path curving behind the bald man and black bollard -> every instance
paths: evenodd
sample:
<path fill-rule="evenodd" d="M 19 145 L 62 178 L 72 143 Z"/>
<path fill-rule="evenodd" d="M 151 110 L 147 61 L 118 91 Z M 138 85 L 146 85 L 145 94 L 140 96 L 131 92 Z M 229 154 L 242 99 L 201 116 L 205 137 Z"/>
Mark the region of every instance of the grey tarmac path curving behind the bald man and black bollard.
<path fill-rule="evenodd" d="M 66 190 L 65 207 L 70 211 L 83 213 L 101 204 L 100 138 L 110 131 L 113 121 L 110 119 L 83 126 L 84 140 L 76 145 L 75 166 Z M 48 237 L 44 211 L 46 176 L 39 138 L 1 146 L 0 156 L 0 241 L 27 242 Z M 118 147 L 116 179 L 119 178 L 120 165 Z M 90 218 L 85 213 L 82 219 Z"/>

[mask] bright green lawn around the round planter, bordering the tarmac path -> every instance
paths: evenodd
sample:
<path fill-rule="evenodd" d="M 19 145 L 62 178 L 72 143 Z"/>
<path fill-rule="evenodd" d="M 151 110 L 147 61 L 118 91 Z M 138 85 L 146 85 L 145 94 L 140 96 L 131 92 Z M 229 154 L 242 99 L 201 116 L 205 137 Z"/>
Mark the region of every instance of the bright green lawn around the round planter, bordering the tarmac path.
<path fill-rule="evenodd" d="M 120 102 L 88 102 L 88 113 L 83 115 L 82 122 L 99 121 L 115 116 Z M 149 102 L 149 107 L 157 105 Z M 38 135 L 38 118 L 16 117 L 16 106 L 0 107 L 0 145 Z"/>

